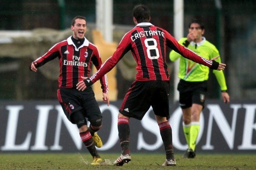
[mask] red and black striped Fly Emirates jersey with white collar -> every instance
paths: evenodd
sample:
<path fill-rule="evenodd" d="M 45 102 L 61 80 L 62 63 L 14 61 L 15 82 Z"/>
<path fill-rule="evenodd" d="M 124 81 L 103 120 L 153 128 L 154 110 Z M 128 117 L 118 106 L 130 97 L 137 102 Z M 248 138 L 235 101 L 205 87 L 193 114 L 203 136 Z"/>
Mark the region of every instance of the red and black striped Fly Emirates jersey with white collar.
<path fill-rule="evenodd" d="M 37 62 L 37 67 L 40 67 L 56 57 L 59 58 L 60 65 L 59 87 L 63 88 L 76 88 L 76 84 L 83 80 L 81 76 L 89 77 L 91 63 L 95 65 L 97 70 L 102 65 L 97 47 L 86 38 L 84 38 L 83 44 L 77 48 L 70 36 L 67 40 L 54 45 L 34 62 Z M 99 79 L 102 92 L 108 93 L 106 75 L 102 75 Z"/>

